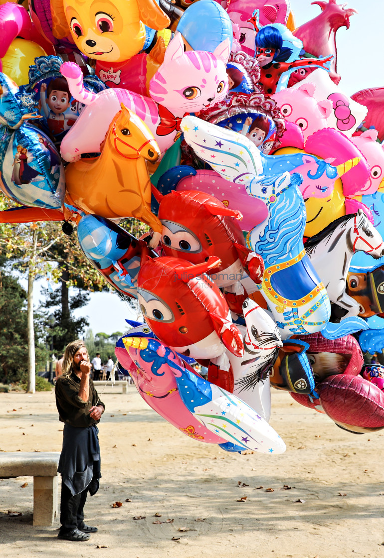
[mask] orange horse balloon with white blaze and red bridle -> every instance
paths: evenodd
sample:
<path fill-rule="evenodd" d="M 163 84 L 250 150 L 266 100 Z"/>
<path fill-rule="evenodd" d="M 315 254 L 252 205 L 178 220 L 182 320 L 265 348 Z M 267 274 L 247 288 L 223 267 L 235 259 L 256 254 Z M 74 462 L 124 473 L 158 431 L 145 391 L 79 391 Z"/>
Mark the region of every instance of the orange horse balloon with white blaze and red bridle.
<path fill-rule="evenodd" d="M 146 160 L 156 161 L 159 146 L 150 129 L 131 110 L 121 110 L 109 125 L 101 155 L 70 163 L 65 169 L 64 216 L 71 206 L 107 219 L 135 217 L 153 229 L 151 247 L 161 237 L 162 225 L 151 213 L 151 182 Z"/>

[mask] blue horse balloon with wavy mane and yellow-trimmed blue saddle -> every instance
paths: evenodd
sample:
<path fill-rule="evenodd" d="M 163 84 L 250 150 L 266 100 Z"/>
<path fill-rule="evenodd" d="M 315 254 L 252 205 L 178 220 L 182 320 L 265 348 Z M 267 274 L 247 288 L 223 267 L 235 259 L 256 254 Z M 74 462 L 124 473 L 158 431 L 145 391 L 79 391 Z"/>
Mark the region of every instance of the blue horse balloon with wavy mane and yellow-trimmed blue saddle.
<path fill-rule="evenodd" d="M 268 204 L 267 224 L 258 225 L 247 235 L 248 247 L 261 255 L 265 264 L 262 295 L 270 306 L 282 339 L 292 334 L 315 333 L 324 329 L 330 318 L 327 291 L 306 255 L 303 234 L 306 211 L 297 186 L 301 177 L 294 174 L 277 181 L 266 176 L 259 182 L 261 191 L 273 190 Z M 252 189 L 252 195 L 255 195 Z"/>

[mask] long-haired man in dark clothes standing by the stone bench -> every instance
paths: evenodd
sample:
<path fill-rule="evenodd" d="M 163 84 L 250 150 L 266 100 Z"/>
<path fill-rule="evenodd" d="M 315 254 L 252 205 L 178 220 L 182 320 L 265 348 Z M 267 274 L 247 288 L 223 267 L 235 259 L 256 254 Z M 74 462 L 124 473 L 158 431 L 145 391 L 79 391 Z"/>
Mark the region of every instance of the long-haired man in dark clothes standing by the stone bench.
<path fill-rule="evenodd" d="M 58 472 L 61 474 L 60 531 L 66 541 L 88 541 L 97 527 L 84 523 L 87 494 L 99 489 L 100 446 L 98 427 L 105 405 L 99 401 L 92 379 L 91 363 L 83 341 L 66 346 L 63 374 L 55 387 L 56 406 L 64 422 L 63 450 Z"/>

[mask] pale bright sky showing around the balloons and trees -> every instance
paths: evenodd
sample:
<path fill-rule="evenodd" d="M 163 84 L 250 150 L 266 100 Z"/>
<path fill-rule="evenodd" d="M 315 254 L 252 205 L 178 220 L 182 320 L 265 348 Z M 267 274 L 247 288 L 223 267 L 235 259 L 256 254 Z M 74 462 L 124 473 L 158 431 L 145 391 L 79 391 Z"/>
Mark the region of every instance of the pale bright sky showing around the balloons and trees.
<path fill-rule="evenodd" d="M 339 0 L 338 3 L 342 4 L 343 1 Z M 291 0 L 291 7 L 297 27 L 320 13 L 320 7 L 312 6 L 310 0 Z M 359 13 L 351 16 L 348 30 L 342 27 L 337 32 L 337 71 L 341 75 L 340 88 L 352 95 L 360 89 L 384 86 L 381 62 L 384 2 L 351 0 L 347 7 L 355 8 Z M 36 301 L 41 299 L 40 290 L 44 283 L 45 280 L 36 281 Z M 26 287 L 26 281 L 22 281 L 22 284 Z M 137 319 L 137 314 L 127 302 L 119 299 L 117 294 L 108 292 L 91 293 L 89 304 L 75 311 L 75 315 L 88 316 L 94 334 L 100 331 L 107 334 L 124 332 L 127 329 L 125 319 Z"/>

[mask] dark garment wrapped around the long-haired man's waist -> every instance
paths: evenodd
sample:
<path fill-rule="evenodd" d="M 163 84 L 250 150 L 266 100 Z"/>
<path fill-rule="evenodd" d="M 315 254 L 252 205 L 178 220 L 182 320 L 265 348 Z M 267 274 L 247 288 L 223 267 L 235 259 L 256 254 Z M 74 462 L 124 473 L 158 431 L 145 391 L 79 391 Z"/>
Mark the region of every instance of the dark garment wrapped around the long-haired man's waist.
<path fill-rule="evenodd" d="M 102 475 L 98 432 L 96 425 L 88 428 L 64 425 L 63 450 L 57 472 L 73 496 L 86 488 L 93 496 L 99 489 Z"/>

